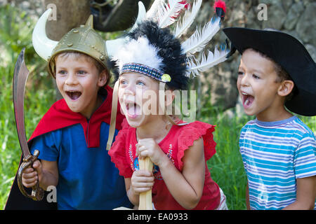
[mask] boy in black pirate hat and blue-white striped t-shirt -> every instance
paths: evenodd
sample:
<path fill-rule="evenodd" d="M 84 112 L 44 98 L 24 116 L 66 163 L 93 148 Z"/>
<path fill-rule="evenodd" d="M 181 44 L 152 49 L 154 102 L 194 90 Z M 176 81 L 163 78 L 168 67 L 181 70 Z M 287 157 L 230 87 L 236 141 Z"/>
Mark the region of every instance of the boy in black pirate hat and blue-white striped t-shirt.
<path fill-rule="evenodd" d="M 280 31 L 223 31 L 242 54 L 237 88 L 245 113 L 256 116 L 239 139 L 247 209 L 315 209 L 315 134 L 290 113 L 316 116 L 315 62 Z"/>

